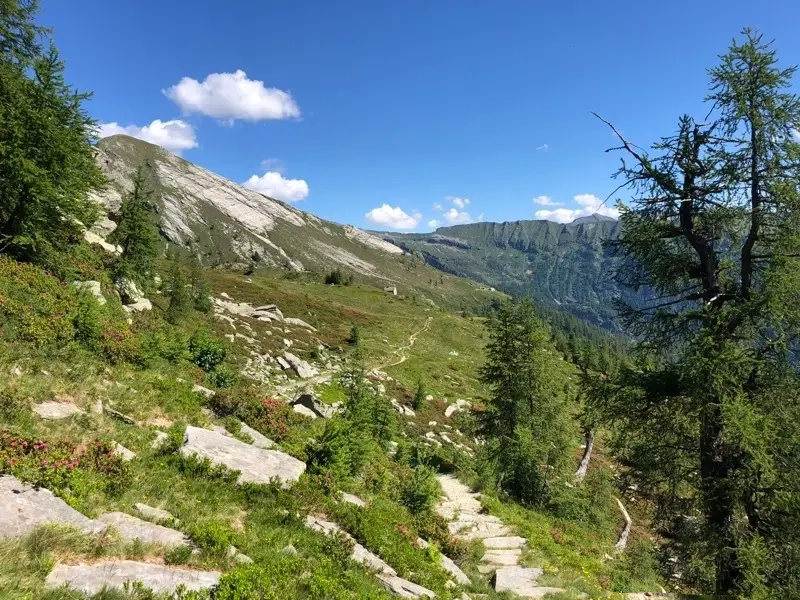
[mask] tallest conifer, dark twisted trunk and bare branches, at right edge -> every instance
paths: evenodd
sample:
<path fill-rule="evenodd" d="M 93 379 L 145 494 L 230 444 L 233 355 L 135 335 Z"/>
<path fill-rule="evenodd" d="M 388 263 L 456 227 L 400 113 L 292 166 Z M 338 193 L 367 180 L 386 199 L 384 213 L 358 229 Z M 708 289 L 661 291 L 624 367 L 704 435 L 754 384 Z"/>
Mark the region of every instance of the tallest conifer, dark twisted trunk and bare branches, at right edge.
<path fill-rule="evenodd" d="M 634 196 L 618 278 L 658 298 L 620 307 L 638 362 L 589 390 L 684 577 L 750 598 L 800 597 L 794 72 L 745 30 L 702 122 L 682 117 L 653 156 L 617 134 Z"/>

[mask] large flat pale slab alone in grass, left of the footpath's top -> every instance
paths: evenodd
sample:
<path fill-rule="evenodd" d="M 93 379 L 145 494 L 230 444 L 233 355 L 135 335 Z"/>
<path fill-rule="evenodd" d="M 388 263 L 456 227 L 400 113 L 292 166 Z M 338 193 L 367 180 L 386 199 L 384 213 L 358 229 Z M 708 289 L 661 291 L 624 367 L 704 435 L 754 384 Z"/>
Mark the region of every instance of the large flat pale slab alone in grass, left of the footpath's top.
<path fill-rule="evenodd" d="M 273 479 L 288 487 L 300 478 L 306 464 L 293 456 L 257 448 L 236 438 L 199 427 L 186 427 L 183 456 L 208 458 L 212 464 L 239 471 L 239 483 L 269 483 Z"/>

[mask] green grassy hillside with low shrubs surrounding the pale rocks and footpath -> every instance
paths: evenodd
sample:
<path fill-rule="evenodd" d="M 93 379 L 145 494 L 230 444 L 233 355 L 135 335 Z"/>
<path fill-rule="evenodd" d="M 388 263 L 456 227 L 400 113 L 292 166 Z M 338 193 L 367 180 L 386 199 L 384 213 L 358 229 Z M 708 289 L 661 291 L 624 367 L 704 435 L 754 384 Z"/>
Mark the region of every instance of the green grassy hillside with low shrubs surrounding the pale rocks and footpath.
<path fill-rule="evenodd" d="M 45 528 L 21 541 L 0 542 L 0 598 L 77 599 L 81 597 L 78 594 L 47 591 L 43 586 L 47 572 L 59 562 L 109 556 L 221 569 L 225 574 L 222 589 L 237 589 L 240 594 L 269 581 L 270 593 L 276 595 L 263 596 L 267 598 L 392 597 L 367 570 L 346 558 L 346 545 L 342 546 L 341 540 L 325 538 L 304 527 L 306 514 L 324 514 L 336 520 L 367 549 L 380 554 L 402 576 L 433 590 L 437 598 L 461 598 L 463 591 L 472 597 L 476 593 L 499 597 L 478 573 L 483 554 L 480 542 L 469 546 L 456 543 L 434 513 L 413 511 L 407 504 L 419 461 L 443 471 L 455 470 L 467 481 L 475 477 L 479 446 L 471 435 L 473 417 L 463 411 L 446 417 L 444 411 L 455 400 L 471 400 L 479 406 L 485 397 L 486 390 L 478 381 L 485 343 L 482 318 L 465 318 L 420 298 L 395 297 L 373 286 L 325 285 L 308 274 L 287 278 L 286 272 L 248 276 L 210 270 L 207 275 L 215 298 L 227 297 L 231 302 L 254 306 L 277 304 L 284 315 L 303 319 L 316 331 L 231 317 L 219 311 L 192 312 L 177 326 L 169 325 L 162 316 L 165 298 L 158 293 L 151 295 L 153 311 L 133 314 L 128 323 L 97 263 L 87 261 L 74 268 L 84 272 L 73 271 L 71 277 L 91 275 L 101 281 L 108 298 L 105 307 L 87 303 L 70 281 L 33 266 L 5 259 L 2 263 L 0 372 L 9 374 L 0 383 L 6 434 L 2 452 L 7 458 L 16 452 L 11 441 L 59 441 L 79 448 L 91 447 L 92 441 L 98 440 L 105 444 L 102 447 L 122 444 L 136 458 L 124 464 L 109 459 L 110 466 L 102 470 L 81 463 L 66 474 L 50 465 L 33 468 L 28 462 L 23 466 L 9 464 L 14 459 L 8 458 L 0 470 L 52 488 L 90 517 L 114 510 L 130 512 L 139 502 L 168 510 L 178 519 L 177 528 L 199 551 L 189 555 L 126 544 L 113 536 L 98 540 Z M 245 329 L 245 323 L 249 329 Z M 244 376 L 225 382 L 214 379 L 190 360 L 187 351 L 187 340 L 198 329 L 206 330 L 224 345 L 227 357 L 220 368 L 234 374 L 256 355 L 279 356 L 287 349 L 287 342 L 292 352 L 322 372 L 326 363 L 346 372 L 352 364 L 348 338 L 354 325 L 361 332 L 366 367 L 371 373 L 368 385 L 386 399 L 387 405 L 388 398 L 394 398 L 409 406 L 420 379 L 426 394 L 433 396 L 414 416 L 397 414 L 391 419 L 392 440 L 398 444 L 395 455 L 373 444 L 367 450 L 370 460 L 355 476 L 331 478 L 310 467 L 291 490 L 286 490 L 238 486 L 233 483 L 235 475 L 175 453 L 186 424 L 222 426 L 238 435 L 237 420 L 219 411 L 231 406 L 242 408 L 245 399 L 294 397 L 307 388 L 313 388 L 324 402 L 345 396 L 343 380 L 335 372 L 328 381 L 319 383 L 280 371 L 270 372 L 260 381 Z M 225 336 L 232 336 L 233 341 Z M 568 362 L 562 364 L 560 376 L 569 385 L 575 371 Z M 216 392 L 215 398 L 194 391 L 195 384 Z M 54 398 L 74 404 L 83 413 L 46 421 L 32 412 L 34 405 Z M 98 401 L 103 403 L 103 412 L 94 411 Z M 313 464 L 319 444 L 330 434 L 328 424 L 281 408 L 274 410 L 277 412 L 269 415 L 248 413 L 255 416 L 246 422 L 275 439 L 281 450 Z M 128 420 L 115 416 L 119 414 Z M 169 436 L 161 449 L 151 447 L 157 431 Z M 443 433 L 453 444 L 430 441 L 431 437 L 443 440 Z M 579 433 L 576 429 L 576 461 Z M 368 506 L 358 509 L 342 504 L 338 500 L 340 491 L 359 495 Z M 485 504 L 492 514 L 518 525 L 529 537 L 531 546 L 523 556 L 524 564 L 544 567 L 547 583 L 567 590 L 559 597 L 588 594 L 608 598 L 614 591 L 653 589 L 657 577 L 648 558 L 646 532 L 635 536 L 638 554 L 622 560 L 604 558 L 611 552 L 619 527 L 612 494 L 611 471 L 600 460 L 587 482 L 574 492 L 565 488 L 551 509 L 532 511 L 490 491 Z M 436 553 L 420 549 L 415 543 L 417 536 L 448 553 L 473 584 L 462 588 L 447 583 L 448 575 L 438 566 Z M 254 562 L 238 564 L 227 554 L 231 545 Z M 289 547 L 292 550 L 287 550 Z M 139 592 L 102 596 L 116 597 L 150 598 Z"/>

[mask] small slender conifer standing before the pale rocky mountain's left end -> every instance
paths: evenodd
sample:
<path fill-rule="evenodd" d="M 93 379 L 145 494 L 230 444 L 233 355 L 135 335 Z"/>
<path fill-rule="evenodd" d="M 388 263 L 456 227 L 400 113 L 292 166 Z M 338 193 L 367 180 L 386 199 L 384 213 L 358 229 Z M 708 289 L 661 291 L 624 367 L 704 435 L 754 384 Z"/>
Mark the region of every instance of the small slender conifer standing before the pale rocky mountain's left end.
<path fill-rule="evenodd" d="M 147 164 L 136 170 L 133 189 L 122 201 L 119 226 L 111 238 L 122 246 L 122 255 L 114 265 L 116 279 L 133 279 L 145 288 L 153 277 L 160 244 L 150 176 Z"/>

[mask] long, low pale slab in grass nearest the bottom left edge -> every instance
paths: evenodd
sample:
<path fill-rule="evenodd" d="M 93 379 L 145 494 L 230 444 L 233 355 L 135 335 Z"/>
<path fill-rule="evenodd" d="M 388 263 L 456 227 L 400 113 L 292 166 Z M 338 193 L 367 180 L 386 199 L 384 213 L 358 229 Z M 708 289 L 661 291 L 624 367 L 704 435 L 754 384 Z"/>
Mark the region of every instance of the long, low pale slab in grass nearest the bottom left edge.
<path fill-rule="evenodd" d="M 219 582 L 217 571 L 192 571 L 166 565 L 120 560 L 91 565 L 57 565 L 45 579 L 45 585 L 66 585 L 85 594 L 97 594 L 103 588 L 123 589 L 126 583 L 140 582 L 156 593 L 174 593 L 179 585 L 187 590 L 210 589 Z"/>

